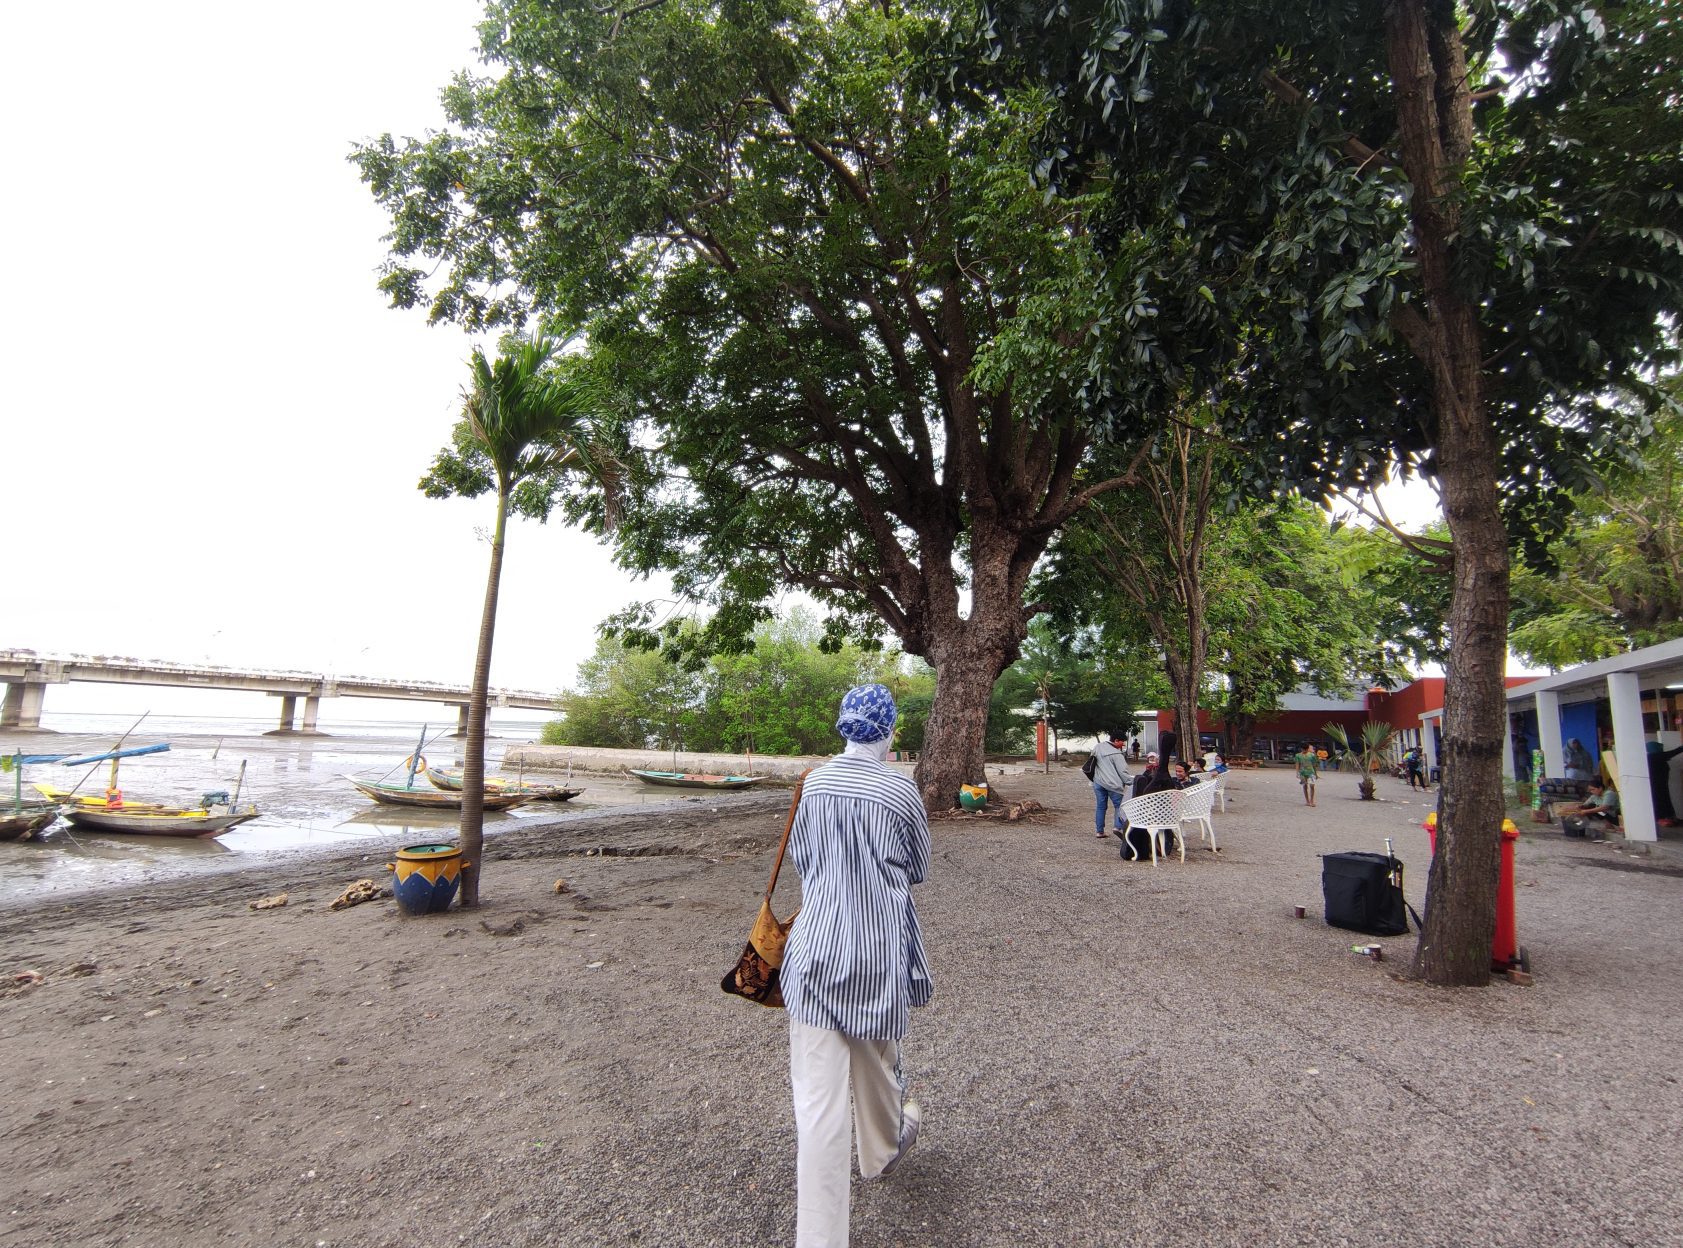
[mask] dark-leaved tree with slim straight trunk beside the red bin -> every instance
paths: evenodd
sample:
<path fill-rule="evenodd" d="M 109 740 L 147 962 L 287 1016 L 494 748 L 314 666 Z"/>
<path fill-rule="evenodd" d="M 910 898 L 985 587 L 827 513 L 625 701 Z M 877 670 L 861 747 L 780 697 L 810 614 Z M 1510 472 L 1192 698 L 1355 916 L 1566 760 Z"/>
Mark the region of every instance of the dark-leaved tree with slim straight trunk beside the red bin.
<path fill-rule="evenodd" d="M 1437 481 L 1452 644 L 1415 970 L 1486 982 L 1510 530 L 1558 523 L 1639 432 L 1601 395 L 1651 394 L 1675 355 L 1683 30 L 1658 0 L 1000 0 L 981 35 L 1059 101 L 1047 182 L 1107 193 L 1111 289 L 1171 313 L 1166 357 L 1242 383 L 1222 410 L 1257 488 Z"/>

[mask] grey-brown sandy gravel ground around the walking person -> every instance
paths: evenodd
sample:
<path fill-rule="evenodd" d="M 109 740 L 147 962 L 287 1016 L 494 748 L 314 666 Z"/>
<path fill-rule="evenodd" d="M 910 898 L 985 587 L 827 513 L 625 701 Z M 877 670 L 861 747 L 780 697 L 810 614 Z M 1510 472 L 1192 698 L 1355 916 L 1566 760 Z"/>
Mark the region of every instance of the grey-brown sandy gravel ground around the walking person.
<path fill-rule="evenodd" d="M 1535 986 L 1442 991 L 1318 918 L 1385 836 L 1422 900 L 1397 782 L 1237 774 L 1156 868 L 1074 769 L 995 784 L 1062 809 L 936 826 L 926 1134 L 857 1246 L 1683 1243 L 1675 846 L 1526 829 Z M 0 1245 L 789 1243 L 784 1021 L 717 987 L 783 802 L 520 828 L 475 913 L 330 912 L 365 851 L 10 907 Z"/>

